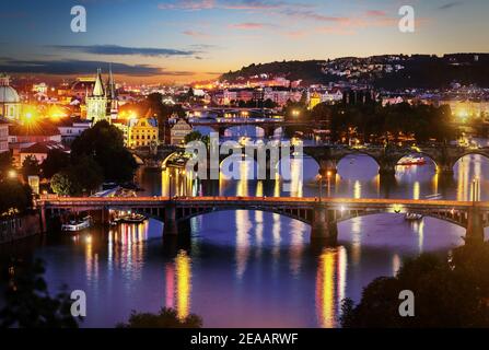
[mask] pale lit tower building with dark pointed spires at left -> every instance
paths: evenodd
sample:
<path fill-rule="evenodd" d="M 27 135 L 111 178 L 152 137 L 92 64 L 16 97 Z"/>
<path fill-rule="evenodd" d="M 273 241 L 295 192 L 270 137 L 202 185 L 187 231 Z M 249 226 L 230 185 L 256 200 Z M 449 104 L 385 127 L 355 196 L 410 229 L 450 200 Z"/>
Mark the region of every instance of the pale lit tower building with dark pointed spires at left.
<path fill-rule="evenodd" d="M 95 84 L 93 85 L 92 93 L 85 98 L 85 105 L 86 119 L 92 121 L 92 124 L 101 120 L 112 122 L 112 120 L 117 119 L 118 105 L 112 70 L 109 71 L 107 89 L 105 89 L 102 81 L 101 70 L 97 70 Z"/>

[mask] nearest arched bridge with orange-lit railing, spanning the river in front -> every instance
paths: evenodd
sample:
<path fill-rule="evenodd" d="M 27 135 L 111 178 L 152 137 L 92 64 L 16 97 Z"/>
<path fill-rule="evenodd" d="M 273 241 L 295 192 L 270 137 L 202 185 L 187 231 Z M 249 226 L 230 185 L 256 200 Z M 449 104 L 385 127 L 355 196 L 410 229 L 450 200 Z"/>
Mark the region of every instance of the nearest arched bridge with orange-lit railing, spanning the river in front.
<path fill-rule="evenodd" d="M 135 197 L 40 198 L 43 228 L 47 220 L 66 212 L 97 211 L 102 222 L 109 220 L 108 210 L 130 210 L 161 220 L 164 236 L 178 236 L 189 219 L 225 210 L 258 210 L 292 218 L 311 225 L 311 241 L 336 245 L 337 224 L 352 218 L 379 213 L 420 213 L 444 220 L 466 230 L 466 243 L 484 242 L 489 226 L 489 202 L 410 199 L 344 199 L 293 197 Z"/>

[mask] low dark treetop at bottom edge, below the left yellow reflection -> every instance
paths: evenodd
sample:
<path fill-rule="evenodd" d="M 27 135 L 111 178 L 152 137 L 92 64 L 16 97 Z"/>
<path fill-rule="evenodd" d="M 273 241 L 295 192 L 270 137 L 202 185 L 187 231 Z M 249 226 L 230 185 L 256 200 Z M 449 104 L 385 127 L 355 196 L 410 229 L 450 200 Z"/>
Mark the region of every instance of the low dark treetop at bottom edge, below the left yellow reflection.
<path fill-rule="evenodd" d="M 132 312 L 127 324 L 117 328 L 200 328 L 202 319 L 194 314 L 179 319 L 175 310 L 163 307 L 159 314 Z"/>

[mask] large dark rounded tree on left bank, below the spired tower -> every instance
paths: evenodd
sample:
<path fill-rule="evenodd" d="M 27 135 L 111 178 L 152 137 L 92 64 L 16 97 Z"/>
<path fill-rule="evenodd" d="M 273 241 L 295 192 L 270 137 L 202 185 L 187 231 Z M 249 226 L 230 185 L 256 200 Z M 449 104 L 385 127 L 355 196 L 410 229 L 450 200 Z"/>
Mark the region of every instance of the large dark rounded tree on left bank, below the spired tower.
<path fill-rule="evenodd" d="M 138 167 L 132 154 L 124 147 L 123 132 L 106 120 L 82 132 L 71 145 L 71 161 L 92 158 L 102 168 L 106 182 L 132 180 Z"/>

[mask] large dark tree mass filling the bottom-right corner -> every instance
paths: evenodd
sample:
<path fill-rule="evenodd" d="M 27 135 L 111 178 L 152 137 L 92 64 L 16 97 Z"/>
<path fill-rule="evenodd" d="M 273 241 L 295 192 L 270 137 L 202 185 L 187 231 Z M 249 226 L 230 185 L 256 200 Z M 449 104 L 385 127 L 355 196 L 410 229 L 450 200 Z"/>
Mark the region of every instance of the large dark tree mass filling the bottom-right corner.
<path fill-rule="evenodd" d="M 399 292 L 415 294 L 416 317 L 400 317 Z M 466 245 L 452 259 L 421 255 L 396 277 L 377 278 L 354 306 L 342 305 L 344 327 L 488 327 L 489 245 Z"/>

